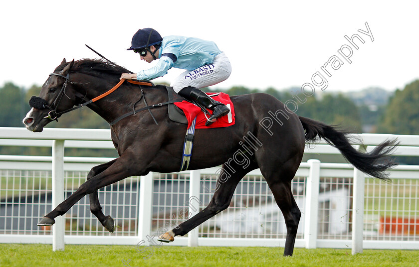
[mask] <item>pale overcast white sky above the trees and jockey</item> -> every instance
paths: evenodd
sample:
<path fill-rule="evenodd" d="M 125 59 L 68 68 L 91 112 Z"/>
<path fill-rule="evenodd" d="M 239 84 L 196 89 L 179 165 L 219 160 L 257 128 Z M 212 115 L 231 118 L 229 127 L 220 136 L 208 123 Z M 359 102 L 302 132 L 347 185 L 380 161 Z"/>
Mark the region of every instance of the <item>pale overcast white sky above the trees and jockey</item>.
<path fill-rule="evenodd" d="M 393 91 L 419 78 L 417 1 L 31 0 L 1 1 L 0 9 L 0 86 L 42 85 L 64 57 L 96 58 L 84 44 L 133 72 L 150 68 L 126 50 L 145 27 L 214 41 L 232 64 L 219 88 L 301 87 L 317 71 L 327 78 L 324 92 Z M 372 36 L 358 31 L 367 32 L 366 22 Z M 354 39 L 359 49 L 344 37 L 355 33 L 364 40 Z M 352 63 L 338 52 L 344 46 L 349 54 L 345 45 Z M 343 64 L 335 57 L 339 68 L 326 65 L 328 77 L 321 67 L 333 56 Z"/>

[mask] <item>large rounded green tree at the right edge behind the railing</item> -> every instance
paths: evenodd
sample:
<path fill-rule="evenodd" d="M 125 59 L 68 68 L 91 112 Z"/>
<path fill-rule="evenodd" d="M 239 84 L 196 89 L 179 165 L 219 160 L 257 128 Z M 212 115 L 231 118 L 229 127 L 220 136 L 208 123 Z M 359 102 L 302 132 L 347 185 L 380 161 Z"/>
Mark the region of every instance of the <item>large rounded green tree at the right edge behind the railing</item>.
<path fill-rule="evenodd" d="M 381 118 L 378 133 L 419 133 L 419 80 L 397 90 Z"/>

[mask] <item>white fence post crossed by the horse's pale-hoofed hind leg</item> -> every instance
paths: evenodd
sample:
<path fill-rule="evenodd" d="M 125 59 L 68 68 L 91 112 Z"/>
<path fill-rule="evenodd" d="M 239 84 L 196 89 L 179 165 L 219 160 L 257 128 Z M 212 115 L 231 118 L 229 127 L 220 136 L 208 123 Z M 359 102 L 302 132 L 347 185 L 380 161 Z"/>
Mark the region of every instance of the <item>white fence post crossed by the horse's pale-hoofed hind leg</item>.
<path fill-rule="evenodd" d="M 192 218 L 192 216 L 195 216 L 200 212 L 200 189 L 201 171 L 191 170 L 191 175 L 189 177 L 189 218 Z M 195 200 L 195 202 L 191 203 L 193 200 Z M 198 246 L 198 231 L 199 227 L 197 226 L 188 233 L 188 247 Z"/>

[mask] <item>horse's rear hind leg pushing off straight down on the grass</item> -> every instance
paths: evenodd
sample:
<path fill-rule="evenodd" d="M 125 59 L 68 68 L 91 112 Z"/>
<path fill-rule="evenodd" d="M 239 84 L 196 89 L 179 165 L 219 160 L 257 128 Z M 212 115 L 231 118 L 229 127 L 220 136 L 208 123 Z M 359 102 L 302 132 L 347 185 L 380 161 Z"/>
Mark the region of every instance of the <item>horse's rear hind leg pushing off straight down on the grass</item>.
<path fill-rule="evenodd" d="M 285 218 L 287 237 L 285 240 L 284 256 L 292 256 L 301 212 L 298 209 L 291 190 L 291 180 L 295 175 L 296 168 L 287 168 L 290 162 L 288 161 L 287 163 L 282 165 L 281 169 L 275 173 L 265 175 L 262 171 L 262 174 L 264 174 L 276 204 L 281 209 Z M 295 164 L 291 165 L 295 166 Z"/>

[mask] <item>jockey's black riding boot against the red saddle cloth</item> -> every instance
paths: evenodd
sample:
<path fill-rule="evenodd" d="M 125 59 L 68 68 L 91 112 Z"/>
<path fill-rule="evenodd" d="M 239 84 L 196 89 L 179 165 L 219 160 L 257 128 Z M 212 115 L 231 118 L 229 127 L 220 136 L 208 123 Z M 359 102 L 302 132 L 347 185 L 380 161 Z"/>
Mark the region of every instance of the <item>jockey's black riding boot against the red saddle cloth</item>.
<path fill-rule="evenodd" d="M 227 113 L 230 112 L 230 109 L 228 109 L 227 106 L 225 106 L 221 102 L 213 100 L 206 93 L 195 87 L 185 87 L 181 91 L 179 91 L 178 94 L 183 96 L 184 98 L 192 99 L 203 105 L 205 108 L 213 111 L 212 115 L 205 123 L 206 126 L 210 126 L 213 122 L 215 122 L 217 118 L 227 115 Z"/>

